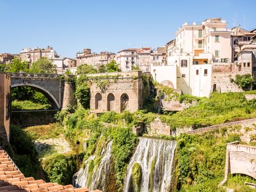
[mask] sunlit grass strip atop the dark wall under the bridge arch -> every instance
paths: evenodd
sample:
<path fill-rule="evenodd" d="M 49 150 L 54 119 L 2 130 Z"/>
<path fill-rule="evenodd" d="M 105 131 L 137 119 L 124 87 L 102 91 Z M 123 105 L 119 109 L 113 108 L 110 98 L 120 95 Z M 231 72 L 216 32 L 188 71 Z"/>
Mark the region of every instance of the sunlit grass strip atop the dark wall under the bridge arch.
<path fill-rule="evenodd" d="M 51 109 L 51 105 L 34 103 L 30 100 L 13 100 L 12 101 L 13 111 L 40 110 L 40 109 Z"/>

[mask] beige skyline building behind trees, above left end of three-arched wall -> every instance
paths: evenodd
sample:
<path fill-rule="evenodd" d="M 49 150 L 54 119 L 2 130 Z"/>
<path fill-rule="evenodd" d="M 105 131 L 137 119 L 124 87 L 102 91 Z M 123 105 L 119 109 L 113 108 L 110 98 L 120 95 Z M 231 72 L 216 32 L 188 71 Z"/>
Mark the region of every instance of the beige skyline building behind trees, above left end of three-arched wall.
<path fill-rule="evenodd" d="M 100 65 L 106 65 L 112 61 L 115 57 L 113 52 L 100 52 L 99 54 L 91 52 L 91 49 L 83 49 L 83 52 L 77 52 L 76 63 L 77 67 L 79 65 L 88 64 L 93 65 L 93 67 L 99 67 Z"/>

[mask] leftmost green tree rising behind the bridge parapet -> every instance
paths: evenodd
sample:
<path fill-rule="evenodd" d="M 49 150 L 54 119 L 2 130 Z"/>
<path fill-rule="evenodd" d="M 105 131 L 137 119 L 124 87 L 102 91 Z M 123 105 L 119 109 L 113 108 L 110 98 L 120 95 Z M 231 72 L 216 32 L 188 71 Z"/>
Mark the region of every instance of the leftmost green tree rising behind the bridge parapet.
<path fill-rule="evenodd" d="M 5 63 L 5 72 L 28 72 L 29 63 L 15 57 L 12 61 Z"/>

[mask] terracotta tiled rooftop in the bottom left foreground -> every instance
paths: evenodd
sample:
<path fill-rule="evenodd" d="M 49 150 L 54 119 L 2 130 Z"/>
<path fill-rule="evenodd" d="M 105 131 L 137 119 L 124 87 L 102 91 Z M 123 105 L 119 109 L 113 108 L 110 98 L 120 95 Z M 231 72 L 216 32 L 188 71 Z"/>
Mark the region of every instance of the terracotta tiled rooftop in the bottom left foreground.
<path fill-rule="evenodd" d="M 42 179 L 25 177 L 13 163 L 8 154 L 0 147 L 0 191 L 61 191 L 61 192 L 87 192 L 88 188 L 74 188 L 72 185 L 62 186 L 56 182 L 45 182 Z M 99 190 L 91 192 L 100 192 Z"/>

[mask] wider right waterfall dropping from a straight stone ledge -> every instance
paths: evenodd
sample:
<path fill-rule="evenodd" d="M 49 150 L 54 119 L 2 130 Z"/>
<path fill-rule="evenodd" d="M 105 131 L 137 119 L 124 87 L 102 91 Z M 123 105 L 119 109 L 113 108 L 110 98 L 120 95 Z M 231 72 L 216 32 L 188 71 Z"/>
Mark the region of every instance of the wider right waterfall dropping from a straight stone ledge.
<path fill-rule="evenodd" d="M 127 168 L 124 191 L 170 191 L 175 147 L 175 141 L 140 138 Z M 141 167 L 140 186 L 137 190 L 131 185 L 132 166 L 135 163 Z"/>

